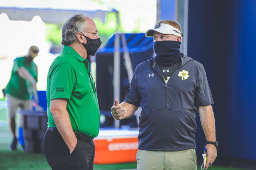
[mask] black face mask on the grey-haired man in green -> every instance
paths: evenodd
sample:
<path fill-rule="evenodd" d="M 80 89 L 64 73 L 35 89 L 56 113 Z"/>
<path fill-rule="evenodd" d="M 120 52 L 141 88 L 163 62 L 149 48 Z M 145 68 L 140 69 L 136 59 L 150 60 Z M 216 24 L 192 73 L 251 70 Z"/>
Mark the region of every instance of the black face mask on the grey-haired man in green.
<path fill-rule="evenodd" d="M 83 35 L 85 36 L 85 35 Z M 87 50 L 87 54 L 91 55 L 91 56 L 94 56 L 95 53 L 97 52 L 97 50 L 100 48 L 100 45 L 101 45 L 101 41 L 100 41 L 100 38 L 97 38 L 97 39 L 90 39 L 88 37 L 86 37 L 86 41 L 87 43 L 83 44 L 84 48 Z"/>

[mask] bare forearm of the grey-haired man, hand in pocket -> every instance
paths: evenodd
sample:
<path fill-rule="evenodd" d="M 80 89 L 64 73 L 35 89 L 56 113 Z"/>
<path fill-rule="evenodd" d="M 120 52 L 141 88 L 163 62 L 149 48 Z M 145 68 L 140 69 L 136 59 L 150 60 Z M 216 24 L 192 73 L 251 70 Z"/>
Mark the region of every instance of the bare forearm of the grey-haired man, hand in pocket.
<path fill-rule="evenodd" d="M 52 100 L 51 100 L 52 102 Z M 54 102 L 52 102 L 54 103 Z M 51 103 L 51 104 L 52 104 Z M 55 105 L 55 103 L 54 103 Z M 72 152 L 76 147 L 77 139 L 71 126 L 69 114 L 66 107 L 59 107 L 57 109 L 50 109 L 52 117 L 54 118 L 55 125 L 64 139 L 67 147 Z"/>

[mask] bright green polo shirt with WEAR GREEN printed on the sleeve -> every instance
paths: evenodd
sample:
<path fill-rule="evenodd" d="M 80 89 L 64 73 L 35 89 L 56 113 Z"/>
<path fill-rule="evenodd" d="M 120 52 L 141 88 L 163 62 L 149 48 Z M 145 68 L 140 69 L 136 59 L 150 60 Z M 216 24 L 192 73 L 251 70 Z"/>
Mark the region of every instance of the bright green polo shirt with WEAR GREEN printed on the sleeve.
<path fill-rule="evenodd" d="M 56 127 L 50 100 L 68 99 L 72 128 L 77 133 L 96 137 L 100 128 L 100 110 L 94 81 L 90 76 L 89 62 L 73 48 L 64 46 L 54 59 L 47 76 L 48 128 Z"/>

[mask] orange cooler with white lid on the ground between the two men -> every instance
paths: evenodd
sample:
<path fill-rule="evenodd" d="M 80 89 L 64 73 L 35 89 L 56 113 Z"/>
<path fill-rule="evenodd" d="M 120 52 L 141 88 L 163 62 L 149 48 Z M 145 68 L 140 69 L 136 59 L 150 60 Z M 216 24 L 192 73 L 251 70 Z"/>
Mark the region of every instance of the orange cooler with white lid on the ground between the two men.
<path fill-rule="evenodd" d="M 136 162 L 138 151 L 138 130 L 100 129 L 93 140 L 95 164 Z"/>

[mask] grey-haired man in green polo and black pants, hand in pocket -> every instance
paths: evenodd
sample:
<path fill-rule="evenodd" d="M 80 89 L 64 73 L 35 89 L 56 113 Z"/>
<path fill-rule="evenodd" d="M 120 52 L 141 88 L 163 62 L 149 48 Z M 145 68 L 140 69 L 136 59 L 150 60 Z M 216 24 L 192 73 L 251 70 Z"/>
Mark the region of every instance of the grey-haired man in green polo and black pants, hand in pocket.
<path fill-rule="evenodd" d="M 47 76 L 48 129 L 43 149 L 52 169 L 92 170 L 99 104 L 87 55 L 101 41 L 92 19 L 74 15 L 62 26 L 62 52 Z"/>

